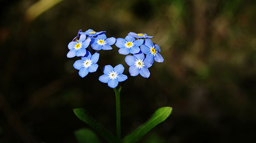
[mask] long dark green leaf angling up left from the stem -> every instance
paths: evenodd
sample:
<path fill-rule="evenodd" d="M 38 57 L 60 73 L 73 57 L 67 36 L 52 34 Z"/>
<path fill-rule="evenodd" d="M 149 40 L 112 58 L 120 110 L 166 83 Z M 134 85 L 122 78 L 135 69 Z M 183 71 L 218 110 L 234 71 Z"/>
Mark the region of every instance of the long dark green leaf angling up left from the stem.
<path fill-rule="evenodd" d="M 75 115 L 86 122 L 89 126 L 91 126 L 99 135 L 101 135 L 105 140 L 111 143 L 117 142 L 117 139 L 114 137 L 112 133 L 106 130 L 101 124 L 95 121 L 86 110 L 82 108 L 74 109 Z"/>

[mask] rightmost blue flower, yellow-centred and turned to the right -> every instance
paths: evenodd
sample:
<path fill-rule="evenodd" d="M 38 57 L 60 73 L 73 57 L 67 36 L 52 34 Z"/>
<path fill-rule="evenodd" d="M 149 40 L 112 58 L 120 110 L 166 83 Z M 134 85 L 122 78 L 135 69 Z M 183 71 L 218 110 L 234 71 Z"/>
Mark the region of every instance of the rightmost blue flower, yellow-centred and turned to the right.
<path fill-rule="evenodd" d="M 140 49 L 143 53 L 146 54 L 148 61 L 153 64 L 154 60 L 158 63 L 163 62 L 163 57 L 159 53 L 160 47 L 157 44 L 154 44 L 150 39 L 145 39 L 145 44 L 140 46 Z"/>

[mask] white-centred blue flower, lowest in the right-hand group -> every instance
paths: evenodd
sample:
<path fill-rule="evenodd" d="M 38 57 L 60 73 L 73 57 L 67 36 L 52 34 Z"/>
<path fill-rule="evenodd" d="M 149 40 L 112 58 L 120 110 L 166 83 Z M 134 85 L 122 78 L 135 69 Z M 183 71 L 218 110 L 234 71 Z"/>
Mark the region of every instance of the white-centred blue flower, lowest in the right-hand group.
<path fill-rule="evenodd" d="M 150 77 L 150 71 L 147 68 L 150 68 L 152 64 L 148 62 L 148 59 L 145 58 L 142 52 L 134 55 L 127 55 L 124 61 L 130 66 L 129 72 L 131 76 L 140 74 L 145 78 Z"/>

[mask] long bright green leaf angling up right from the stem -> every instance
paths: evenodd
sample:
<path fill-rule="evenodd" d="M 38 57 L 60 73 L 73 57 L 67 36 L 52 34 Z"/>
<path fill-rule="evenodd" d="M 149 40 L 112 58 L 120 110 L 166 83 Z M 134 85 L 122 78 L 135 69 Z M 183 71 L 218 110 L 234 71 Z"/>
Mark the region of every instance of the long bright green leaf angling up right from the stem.
<path fill-rule="evenodd" d="M 172 112 L 172 107 L 162 107 L 156 110 L 154 115 L 145 124 L 141 125 L 133 133 L 125 136 L 122 140 L 123 143 L 134 143 L 143 137 L 148 131 L 154 128 L 159 123 L 163 122 Z"/>

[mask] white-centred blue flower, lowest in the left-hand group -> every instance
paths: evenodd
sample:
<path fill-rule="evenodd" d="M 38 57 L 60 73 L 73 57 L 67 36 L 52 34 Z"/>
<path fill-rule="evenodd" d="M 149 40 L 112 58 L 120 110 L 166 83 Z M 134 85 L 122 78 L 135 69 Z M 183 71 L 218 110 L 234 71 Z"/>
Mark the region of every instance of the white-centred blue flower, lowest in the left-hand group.
<path fill-rule="evenodd" d="M 94 53 L 91 55 L 90 52 L 87 52 L 86 56 L 83 56 L 81 60 L 77 60 L 73 67 L 79 70 L 78 74 L 81 77 L 87 76 L 89 72 L 96 72 L 98 69 L 99 53 Z"/>

